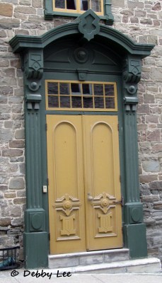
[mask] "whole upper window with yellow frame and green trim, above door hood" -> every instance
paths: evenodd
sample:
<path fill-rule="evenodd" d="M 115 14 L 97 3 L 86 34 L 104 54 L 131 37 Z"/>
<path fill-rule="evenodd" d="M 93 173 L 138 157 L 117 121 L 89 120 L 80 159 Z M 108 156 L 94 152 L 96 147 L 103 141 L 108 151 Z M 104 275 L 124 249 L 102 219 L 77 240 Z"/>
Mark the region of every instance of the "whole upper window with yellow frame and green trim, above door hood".
<path fill-rule="evenodd" d="M 78 17 L 88 9 L 112 25 L 111 0 L 45 0 L 45 20 L 52 20 L 53 16 Z"/>

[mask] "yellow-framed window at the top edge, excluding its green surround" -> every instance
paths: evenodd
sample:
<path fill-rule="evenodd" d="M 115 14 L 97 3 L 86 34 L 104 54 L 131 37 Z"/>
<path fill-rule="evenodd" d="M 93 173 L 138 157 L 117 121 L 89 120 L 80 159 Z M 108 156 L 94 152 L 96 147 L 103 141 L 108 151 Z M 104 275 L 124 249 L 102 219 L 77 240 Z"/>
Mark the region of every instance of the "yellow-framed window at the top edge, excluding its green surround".
<path fill-rule="evenodd" d="M 103 15 L 103 0 L 53 0 L 53 9 L 58 12 L 83 13 L 89 8 Z"/>

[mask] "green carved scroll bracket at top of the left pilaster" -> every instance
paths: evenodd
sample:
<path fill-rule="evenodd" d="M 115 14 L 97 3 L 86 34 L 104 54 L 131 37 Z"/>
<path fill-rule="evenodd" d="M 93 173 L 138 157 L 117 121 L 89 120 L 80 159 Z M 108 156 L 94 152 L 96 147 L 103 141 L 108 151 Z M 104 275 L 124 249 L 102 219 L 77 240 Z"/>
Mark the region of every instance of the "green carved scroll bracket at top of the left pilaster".
<path fill-rule="evenodd" d="M 40 109 L 41 79 L 43 74 L 43 53 L 42 50 L 28 50 L 24 57 L 25 73 L 25 101 L 28 110 Z"/>

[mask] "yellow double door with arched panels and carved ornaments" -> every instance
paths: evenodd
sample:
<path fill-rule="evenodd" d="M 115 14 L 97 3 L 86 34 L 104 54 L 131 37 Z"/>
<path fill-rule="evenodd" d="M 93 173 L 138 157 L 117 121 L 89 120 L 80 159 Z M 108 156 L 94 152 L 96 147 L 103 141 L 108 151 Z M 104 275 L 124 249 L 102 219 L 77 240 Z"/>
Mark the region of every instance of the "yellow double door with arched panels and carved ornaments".
<path fill-rule="evenodd" d="M 122 248 L 117 116 L 47 115 L 50 253 Z"/>

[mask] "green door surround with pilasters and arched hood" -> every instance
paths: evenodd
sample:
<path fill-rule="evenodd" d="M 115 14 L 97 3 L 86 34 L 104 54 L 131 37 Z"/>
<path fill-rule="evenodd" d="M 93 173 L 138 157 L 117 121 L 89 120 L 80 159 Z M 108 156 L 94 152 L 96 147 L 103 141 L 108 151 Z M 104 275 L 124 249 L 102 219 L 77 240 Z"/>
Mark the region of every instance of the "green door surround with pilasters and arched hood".
<path fill-rule="evenodd" d="M 132 42 L 112 28 L 99 24 L 99 18 L 88 10 L 74 23 L 54 28 L 42 36 L 16 35 L 10 41 L 13 52 L 19 52 L 24 71 L 25 93 L 25 156 L 26 156 L 26 197 L 24 254 L 25 267 L 47 267 L 49 250 L 48 199 L 42 191 L 47 185 L 47 149 L 45 129 L 45 79 L 63 78 L 98 81 L 98 76 L 118 78 L 118 103 L 120 121 L 120 170 L 123 207 L 124 246 L 129 248 L 130 258 L 147 256 L 146 226 L 143 209 L 139 200 L 139 175 L 137 151 L 137 84 L 141 78 L 141 59 L 149 56 L 154 45 Z M 58 40 L 77 39 L 79 45 L 88 42 L 93 46 L 102 45 L 105 52 L 119 54 L 119 66 L 104 67 L 100 71 L 88 64 L 68 70 L 57 69 L 57 64 L 47 64 L 45 54 Z M 74 41 L 75 42 L 75 41 Z M 86 68 L 85 68 L 86 66 Z M 54 68 L 54 69 L 52 69 Z M 62 73 L 63 72 L 63 73 Z M 60 75 L 59 74 L 59 75 Z M 66 76 L 65 76 L 66 75 Z M 57 114 L 53 112 L 53 114 Z M 88 115 L 88 112 L 86 113 Z M 89 113 L 90 114 L 90 113 Z"/>

